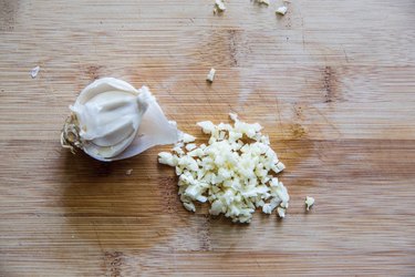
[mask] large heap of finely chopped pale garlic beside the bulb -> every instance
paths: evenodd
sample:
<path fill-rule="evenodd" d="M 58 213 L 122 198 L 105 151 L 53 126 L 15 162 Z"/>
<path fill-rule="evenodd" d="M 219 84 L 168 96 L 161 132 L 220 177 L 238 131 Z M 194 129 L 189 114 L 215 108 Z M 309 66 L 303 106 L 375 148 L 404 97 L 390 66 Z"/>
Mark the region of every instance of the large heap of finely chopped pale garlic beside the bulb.
<path fill-rule="evenodd" d="M 256 208 L 266 214 L 276 208 L 284 217 L 290 196 L 274 176 L 284 168 L 261 125 L 249 124 L 229 114 L 234 125 L 210 121 L 197 123 L 210 134 L 208 145 L 176 146 L 173 154 L 162 152 L 158 162 L 176 167 L 178 194 L 187 211 L 194 202 L 209 202 L 211 215 L 225 214 L 232 222 L 249 223 Z M 245 143 L 250 138 L 251 143 Z M 185 146 L 185 150 L 181 150 Z"/>

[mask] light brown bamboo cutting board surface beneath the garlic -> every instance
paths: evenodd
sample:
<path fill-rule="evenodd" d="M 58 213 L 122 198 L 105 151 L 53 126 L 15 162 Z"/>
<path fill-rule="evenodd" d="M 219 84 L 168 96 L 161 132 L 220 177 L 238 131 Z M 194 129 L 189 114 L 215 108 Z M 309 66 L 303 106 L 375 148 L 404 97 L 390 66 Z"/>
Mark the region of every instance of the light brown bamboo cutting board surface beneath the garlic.
<path fill-rule="evenodd" d="M 0 276 L 415 275 L 415 2 L 212 2 L 0 1 Z M 111 164 L 61 148 L 101 76 L 148 85 L 200 138 L 229 112 L 261 123 L 287 218 L 188 213 L 157 164 L 169 146 Z"/>

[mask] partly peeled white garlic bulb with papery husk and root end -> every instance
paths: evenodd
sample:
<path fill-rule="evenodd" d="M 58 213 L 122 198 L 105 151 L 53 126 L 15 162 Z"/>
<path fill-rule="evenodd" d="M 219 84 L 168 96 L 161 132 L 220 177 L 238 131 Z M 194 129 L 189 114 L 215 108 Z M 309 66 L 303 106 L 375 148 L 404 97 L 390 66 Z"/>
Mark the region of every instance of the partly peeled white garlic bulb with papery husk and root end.
<path fill-rule="evenodd" d="M 100 161 L 127 158 L 179 137 L 176 123 L 166 119 L 147 86 L 136 90 L 118 79 L 94 81 L 70 109 L 62 146 L 82 148 Z"/>

